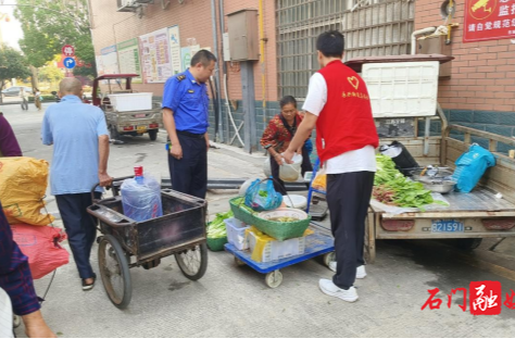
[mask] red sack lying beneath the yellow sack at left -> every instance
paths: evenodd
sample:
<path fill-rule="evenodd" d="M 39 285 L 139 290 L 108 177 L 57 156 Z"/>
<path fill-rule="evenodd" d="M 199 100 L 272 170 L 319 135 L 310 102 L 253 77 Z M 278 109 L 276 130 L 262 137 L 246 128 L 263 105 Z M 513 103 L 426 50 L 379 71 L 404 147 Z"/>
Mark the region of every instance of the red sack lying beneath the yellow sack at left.
<path fill-rule="evenodd" d="M 66 239 L 61 228 L 50 226 L 11 225 L 14 241 L 28 256 L 34 279 L 39 279 L 68 263 L 70 254 L 59 242 Z"/>

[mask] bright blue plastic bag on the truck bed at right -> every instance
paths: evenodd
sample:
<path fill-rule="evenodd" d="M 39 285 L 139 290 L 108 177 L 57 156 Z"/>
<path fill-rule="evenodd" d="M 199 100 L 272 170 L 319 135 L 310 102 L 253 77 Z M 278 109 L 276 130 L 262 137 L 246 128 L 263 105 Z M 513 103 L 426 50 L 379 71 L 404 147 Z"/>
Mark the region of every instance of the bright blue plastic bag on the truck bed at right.
<path fill-rule="evenodd" d="M 468 193 L 476 187 L 488 167 L 495 165 L 495 156 L 477 143 L 470 146 L 455 162 L 456 171 L 452 179 L 456 181 L 455 190 Z"/>

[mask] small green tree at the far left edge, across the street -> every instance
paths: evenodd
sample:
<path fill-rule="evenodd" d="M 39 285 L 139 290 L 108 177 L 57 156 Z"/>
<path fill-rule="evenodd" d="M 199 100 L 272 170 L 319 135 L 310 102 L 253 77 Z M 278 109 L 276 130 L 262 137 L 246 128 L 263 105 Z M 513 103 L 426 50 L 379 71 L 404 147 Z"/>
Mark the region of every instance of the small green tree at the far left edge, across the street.
<path fill-rule="evenodd" d="M 26 78 L 30 75 L 26 58 L 15 49 L 0 46 L 0 91 L 12 78 Z M 0 96 L 0 103 L 3 98 Z"/>

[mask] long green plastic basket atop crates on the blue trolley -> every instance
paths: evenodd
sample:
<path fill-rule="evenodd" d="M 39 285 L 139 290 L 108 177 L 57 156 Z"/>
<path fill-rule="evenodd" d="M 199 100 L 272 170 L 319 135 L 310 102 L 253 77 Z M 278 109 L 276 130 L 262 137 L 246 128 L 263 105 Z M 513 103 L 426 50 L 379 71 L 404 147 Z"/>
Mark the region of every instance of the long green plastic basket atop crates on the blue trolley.
<path fill-rule="evenodd" d="M 284 241 L 291 238 L 299 238 L 304 236 L 304 231 L 310 227 L 311 215 L 307 218 L 297 222 L 281 223 L 271 222 L 264 218 L 258 217 L 259 212 L 251 213 L 247 211 L 236 202 L 241 197 L 236 197 L 229 200 L 230 210 L 235 214 L 235 217 L 247 225 L 252 225 L 262 233 L 275 238 L 279 241 Z"/>

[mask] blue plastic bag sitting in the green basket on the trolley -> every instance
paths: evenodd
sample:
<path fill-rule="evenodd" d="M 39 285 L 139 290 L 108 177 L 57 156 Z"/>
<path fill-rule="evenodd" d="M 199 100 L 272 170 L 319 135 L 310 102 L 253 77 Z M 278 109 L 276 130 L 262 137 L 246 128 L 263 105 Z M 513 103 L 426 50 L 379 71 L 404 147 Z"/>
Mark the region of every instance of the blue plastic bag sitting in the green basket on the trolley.
<path fill-rule="evenodd" d="M 278 209 L 281 203 L 282 196 L 275 190 L 273 179 L 255 179 L 244 196 L 244 204 L 258 212 Z"/>

